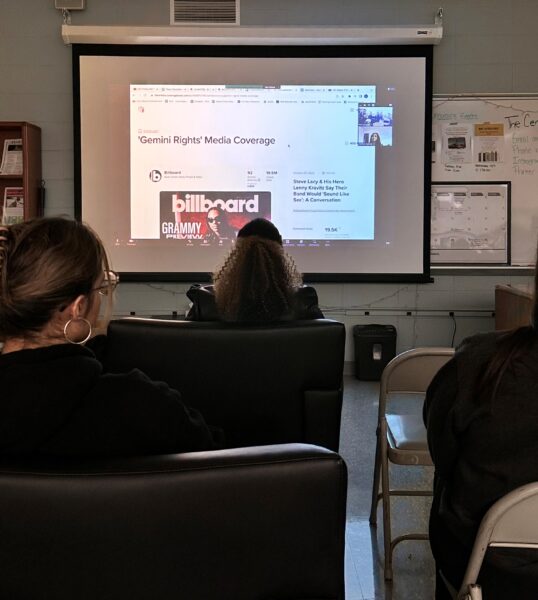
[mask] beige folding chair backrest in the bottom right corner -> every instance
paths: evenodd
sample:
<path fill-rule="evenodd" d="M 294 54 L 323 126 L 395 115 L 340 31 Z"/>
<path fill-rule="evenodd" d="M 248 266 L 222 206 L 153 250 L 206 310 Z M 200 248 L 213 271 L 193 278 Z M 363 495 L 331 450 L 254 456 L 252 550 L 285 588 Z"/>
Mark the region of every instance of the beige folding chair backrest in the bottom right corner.
<path fill-rule="evenodd" d="M 489 546 L 538 550 L 538 483 L 509 492 L 482 518 L 458 598 L 476 583 Z"/>

